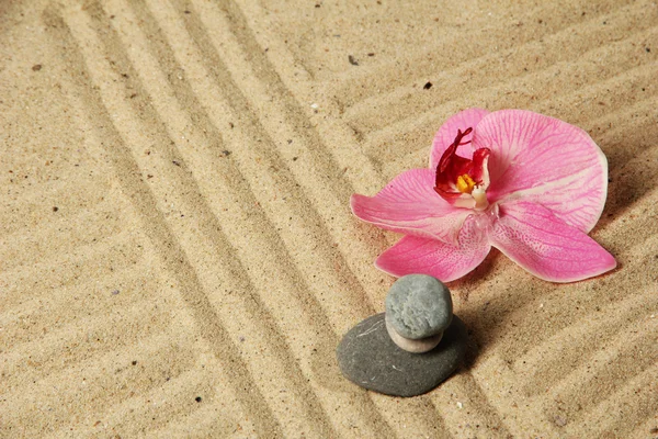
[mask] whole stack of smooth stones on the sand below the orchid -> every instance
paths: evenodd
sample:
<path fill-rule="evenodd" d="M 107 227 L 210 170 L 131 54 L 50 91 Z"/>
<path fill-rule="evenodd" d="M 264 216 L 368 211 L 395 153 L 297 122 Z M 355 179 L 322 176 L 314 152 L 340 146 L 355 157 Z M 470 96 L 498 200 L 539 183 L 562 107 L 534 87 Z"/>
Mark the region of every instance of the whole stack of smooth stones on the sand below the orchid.
<path fill-rule="evenodd" d="M 343 375 L 355 384 L 387 395 L 416 396 L 455 371 L 466 341 L 447 288 L 430 275 L 410 274 L 390 288 L 386 313 L 353 327 L 337 356 Z"/>

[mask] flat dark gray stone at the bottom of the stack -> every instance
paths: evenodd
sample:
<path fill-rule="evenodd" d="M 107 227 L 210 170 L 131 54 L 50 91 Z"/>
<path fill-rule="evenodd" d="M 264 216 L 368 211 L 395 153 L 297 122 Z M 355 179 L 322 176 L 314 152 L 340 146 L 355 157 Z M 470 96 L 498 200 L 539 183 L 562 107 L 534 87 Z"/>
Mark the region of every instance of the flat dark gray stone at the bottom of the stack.
<path fill-rule="evenodd" d="M 464 359 L 468 336 L 454 317 L 439 346 L 411 353 L 396 346 L 386 330 L 385 314 L 354 326 L 338 345 L 338 364 L 354 384 L 394 396 L 416 396 L 445 381 Z"/>

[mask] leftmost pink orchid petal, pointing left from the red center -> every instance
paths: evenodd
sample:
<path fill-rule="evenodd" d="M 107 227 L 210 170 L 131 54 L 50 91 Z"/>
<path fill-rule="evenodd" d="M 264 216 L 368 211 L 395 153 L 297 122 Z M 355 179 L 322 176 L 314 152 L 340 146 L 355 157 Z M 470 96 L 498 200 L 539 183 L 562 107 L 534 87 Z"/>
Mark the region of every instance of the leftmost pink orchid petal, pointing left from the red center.
<path fill-rule="evenodd" d="M 456 243 L 460 227 L 472 212 L 453 207 L 433 188 L 432 170 L 411 169 L 375 196 L 352 195 L 352 212 L 387 230 Z"/>

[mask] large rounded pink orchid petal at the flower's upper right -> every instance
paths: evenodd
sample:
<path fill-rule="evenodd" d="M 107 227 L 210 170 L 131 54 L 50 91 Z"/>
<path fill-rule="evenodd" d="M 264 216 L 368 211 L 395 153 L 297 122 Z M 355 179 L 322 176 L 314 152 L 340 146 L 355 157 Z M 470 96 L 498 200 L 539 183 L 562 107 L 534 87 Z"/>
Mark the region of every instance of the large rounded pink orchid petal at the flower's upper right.
<path fill-rule="evenodd" d="M 502 110 L 474 130 L 473 147 L 491 149 L 489 200 L 523 199 L 589 232 L 608 192 L 608 162 L 582 130 L 522 110 Z"/>

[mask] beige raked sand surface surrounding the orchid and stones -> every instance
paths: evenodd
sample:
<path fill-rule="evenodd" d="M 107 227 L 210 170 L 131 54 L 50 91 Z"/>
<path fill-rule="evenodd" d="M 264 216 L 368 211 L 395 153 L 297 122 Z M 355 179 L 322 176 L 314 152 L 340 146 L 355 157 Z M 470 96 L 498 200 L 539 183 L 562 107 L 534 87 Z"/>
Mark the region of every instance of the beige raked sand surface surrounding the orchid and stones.
<path fill-rule="evenodd" d="M 2 1 L 0 437 L 658 437 L 657 4 L 438 3 Z M 451 284 L 465 367 L 365 392 L 334 348 L 399 236 L 349 198 L 469 106 L 591 134 L 620 268 L 495 251 Z"/>

